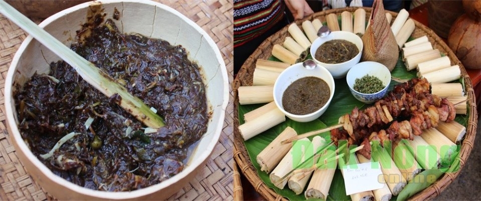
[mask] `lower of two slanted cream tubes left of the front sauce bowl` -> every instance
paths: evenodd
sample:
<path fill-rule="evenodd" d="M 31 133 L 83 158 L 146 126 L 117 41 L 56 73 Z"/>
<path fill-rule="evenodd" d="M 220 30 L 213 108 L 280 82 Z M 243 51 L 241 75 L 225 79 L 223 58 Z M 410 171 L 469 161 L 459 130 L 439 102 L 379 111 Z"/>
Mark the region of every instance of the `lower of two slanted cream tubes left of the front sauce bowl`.
<path fill-rule="evenodd" d="M 239 132 L 244 140 L 248 140 L 284 121 L 286 121 L 286 115 L 276 108 L 240 125 Z"/>

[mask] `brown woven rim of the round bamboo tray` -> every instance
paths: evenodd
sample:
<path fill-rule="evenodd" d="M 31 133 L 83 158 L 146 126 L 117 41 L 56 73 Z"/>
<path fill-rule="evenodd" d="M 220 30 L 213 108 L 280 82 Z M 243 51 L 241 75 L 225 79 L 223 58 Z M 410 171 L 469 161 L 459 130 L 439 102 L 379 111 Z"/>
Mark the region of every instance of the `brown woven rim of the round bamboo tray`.
<path fill-rule="evenodd" d="M 326 22 L 326 16 L 329 14 L 336 14 L 338 16 L 341 15 L 344 11 L 349 11 L 353 13 L 357 8 L 344 8 L 344 9 L 334 9 L 328 10 L 324 12 L 315 13 L 305 19 L 297 20 L 295 23 L 301 28 L 302 30 L 302 22 L 305 20 L 314 20 L 320 19 L 321 22 Z M 366 10 L 366 16 L 369 17 L 371 14 L 371 8 L 364 8 Z M 393 16 L 394 21 L 397 13 L 386 11 L 391 13 Z M 461 150 L 459 153 L 460 159 L 460 168 L 462 168 L 466 162 L 466 159 L 471 152 L 474 142 L 474 136 L 476 134 L 476 127 L 477 127 L 477 114 L 476 114 L 476 104 L 474 99 L 474 90 L 472 89 L 471 80 L 467 75 L 464 67 L 462 66 L 461 62 L 457 59 L 455 54 L 449 49 L 449 47 L 429 28 L 422 25 L 421 23 L 414 21 L 416 28 L 411 35 L 413 38 L 418 38 L 421 36 L 427 36 L 431 44 L 433 44 L 433 48 L 439 49 L 443 54 L 447 55 L 451 61 L 455 65 L 459 65 L 461 68 L 461 76 L 464 78 L 465 81 L 465 92 L 468 96 L 467 105 L 469 107 L 469 115 L 467 126 L 466 126 L 466 134 L 464 136 L 464 140 L 461 144 Z M 284 197 L 277 194 L 273 189 L 269 188 L 259 177 L 257 174 L 256 169 L 254 168 L 252 161 L 249 158 L 248 152 L 246 147 L 244 146 L 244 140 L 239 133 L 238 126 L 238 97 L 237 97 L 237 89 L 239 86 L 250 86 L 253 83 L 253 73 L 255 69 L 255 64 L 257 59 L 269 59 L 271 57 L 272 48 L 275 44 L 282 44 L 285 37 L 289 36 L 288 27 L 283 28 L 276 34 L 269 37 L 266 41 L 264 41 L 261 46 L 246 60 L 242 68 L 240 69 L 237 77 L 235 78 L 233 85 L 233 93 L 234 93 L 234 159 L 239 165 L 240 170 L 246 176 L 246 178 L 252 183 L 254 188 L 263 195 L 268 200 L 285 200 Z M 459 174 L 461 169 L 456 172 L 452 173 L 445 173 L 443 174 L 436 182 L 431 184 L 426 189 L 418 192 L 417 194 L 411 196 L 409 199 L 413 200 L 426 200 L 426 199 L 433 199 L 439 193 L 444 190 Z"/>

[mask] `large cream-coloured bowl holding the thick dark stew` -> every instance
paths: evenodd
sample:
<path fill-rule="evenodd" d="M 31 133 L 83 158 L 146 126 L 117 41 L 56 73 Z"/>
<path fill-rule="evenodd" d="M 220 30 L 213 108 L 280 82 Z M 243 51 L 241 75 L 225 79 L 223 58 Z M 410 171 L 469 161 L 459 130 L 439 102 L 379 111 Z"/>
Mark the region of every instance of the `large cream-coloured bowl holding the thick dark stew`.
<path fill-rule="evenodd" d="M 206 96 L 211 119 L 207 132 L 198 142 L 198 148 L 190 157 L 189 163 L 178 174 L 158 184 L 130 191 L 107 192 L 87 189 L 55 175 L 30 151 L 18 129 L 18 118 L 13 99 L 13 86 L 22 85 L 35 72 L 49 71 L 49 63 L 60 58 L 30 36 L 16 53 L 5 82 L 5 107 L 9 134 L 16 148 L 16 154 L 36 182 L 59 200 L 147 200 L 166 199 L 179 191 L 205 165 L 206 160 L 217 144 L 223 127 L 225 109 L 228 103 L 228 77 L 220 51 L 209 35 L 185 16 L 151 1 L 95 1 L 84 3 L 43 21 L 40 26 L 65 44 L 75 39 L 77 30 L 87 22 L 89 5 L 102 3 L 104 13 L 111 18 L 114 8 L 122 11 L 122 17 L 114 22 L 124 33 L 139 33 L 151 38 L 168 41 L 172 45 L 182 45 L 189 52 L 189 59 L 202 67 L 206 85 Z"/>

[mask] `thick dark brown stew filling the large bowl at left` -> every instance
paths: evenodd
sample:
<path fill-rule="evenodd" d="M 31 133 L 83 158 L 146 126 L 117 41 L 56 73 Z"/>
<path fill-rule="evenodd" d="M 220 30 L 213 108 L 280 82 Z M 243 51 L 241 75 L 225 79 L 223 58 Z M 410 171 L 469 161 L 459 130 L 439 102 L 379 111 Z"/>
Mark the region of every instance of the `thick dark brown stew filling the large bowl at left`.
<path fill-rule="evenodd" d="M 58 61 L 48 75 L 16 86 L 19 129 L 32 152 L 66 180 L 107 191 L 145 188 L 182 171 L 189 147 L 207 130 L 201 70 L 181 46 L 100 22 L 71 49 L 157 110 L 166 126 L 147 132 L 115 104 L 119 96 L 106 97 Z M 62 146 L 44 155 L 62 138 Z"/>

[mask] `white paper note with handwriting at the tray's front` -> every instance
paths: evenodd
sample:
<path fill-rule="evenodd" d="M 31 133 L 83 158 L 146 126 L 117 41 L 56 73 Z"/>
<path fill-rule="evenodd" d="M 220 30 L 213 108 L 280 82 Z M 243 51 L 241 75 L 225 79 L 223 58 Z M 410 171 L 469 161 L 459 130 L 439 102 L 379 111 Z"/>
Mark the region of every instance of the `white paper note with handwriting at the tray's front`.
<path fill-rule="evenodd" d="M 384 186 L 384 183 L 378 180 L 378 178 L 382 178 L 380 165 L 374 164 L 374 167 L 378 168 L 372 168 L 372 163 L 378 162 L 359 163 L 349 165 L 343 169 L 346 195 L 375 190 Z"/>

